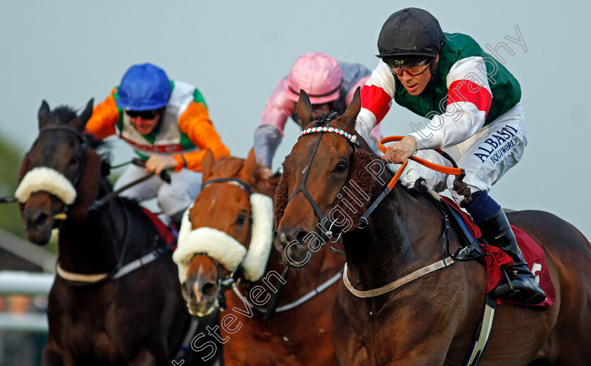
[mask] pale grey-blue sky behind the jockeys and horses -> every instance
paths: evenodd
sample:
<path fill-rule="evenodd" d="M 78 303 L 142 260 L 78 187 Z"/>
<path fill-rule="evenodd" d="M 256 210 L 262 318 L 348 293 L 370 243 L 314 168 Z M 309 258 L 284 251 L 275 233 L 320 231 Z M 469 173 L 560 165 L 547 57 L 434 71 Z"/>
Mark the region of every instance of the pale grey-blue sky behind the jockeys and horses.
<path fill-rule="evenodd" d="M 298 55 L 377 64 L 381 25 L 405 6 L 425 8 L 445 32 L 481 46 L 506 43 L 505 66 L 521 84 L 529 143 L 521 162 L 492 188 L 504 207 L 557 214 L 591 237 L 585 105 L 591 38 L 587 1 L 11 1 L 0 3 L 0 133 L 26 150 L 37 110 L 81 108 L 106 98 L 132 64 L 151 62 L 203 93 L 233 155 L 245 157 L 277 80 Z M 477 4 L 478 3 L 478 4 Z M 519 26 L 527 53 L 516 38 Z M 409 133 L 421 117 L 393 105 L 387 134 Z M 277 167 L 299 129 L 288 122 Z M 130 150 L 116 143 L 115 162 Z M 1 159 L 1 157 L 0 157 Z M 15 166 L 14 169 L 18 169 Z"/>

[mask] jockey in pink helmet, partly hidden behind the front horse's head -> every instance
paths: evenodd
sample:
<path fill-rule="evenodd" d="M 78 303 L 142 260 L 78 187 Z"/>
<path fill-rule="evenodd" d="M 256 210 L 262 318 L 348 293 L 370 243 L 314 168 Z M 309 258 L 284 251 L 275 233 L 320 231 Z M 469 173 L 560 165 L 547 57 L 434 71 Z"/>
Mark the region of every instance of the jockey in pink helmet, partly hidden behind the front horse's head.
<path fill-rule="evenodd" d="M 288 117 L 300 122 L 295 112 L 300 89 L 310 96 L 315 115 L 331 111 L 342 115 L 357 86 L 363 86 L 370 75 L 371 71 L 361 64 L 339 63 L 321 52 L 301 55 L 288 76 L 277 83 L 255 131 L 255 155 L 260 164 L 267 166 L 267 173 L 270 174 L 271 162 L 283 138 Z M 377 151 L 380 138 L 379 126 L 376 126 L 367 143 Z"/>

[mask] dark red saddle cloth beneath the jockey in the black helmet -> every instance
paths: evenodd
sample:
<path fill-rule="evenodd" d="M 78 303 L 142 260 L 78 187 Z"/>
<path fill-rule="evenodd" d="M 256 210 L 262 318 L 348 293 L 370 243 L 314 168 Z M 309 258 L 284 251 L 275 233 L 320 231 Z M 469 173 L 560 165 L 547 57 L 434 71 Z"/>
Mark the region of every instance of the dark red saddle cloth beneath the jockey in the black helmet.
<path fill-rule="evenodd" d="M 457 204 L 449 198 L 442 198 L 448 204 L 450 204 L 451 207 L 458 211 L 459 214 L 462 215 L 462 218 L 464 219 L 464 222 L 466 223 L 466 226 L 468 226 L 472 235 L 474 235 L 475 238 L 481 237 L 480 228 L 478 228 L 474 221 L 472 221 L 472 218 L 469 216 L 469 214 L 466 214 L 464 211 L 459 209 Z M 518 301 L 501 301 L 497 299 L 497 305 L 502 303 L 512 303 L 514 305 L 520 306 L 542 306 L 546 310 L 552 308 L 554 301 L 556 300 L 556 292 L 554 291 L 554 285 L 552 284 L 550 274 L 546 268 L 546 258 L 544 256 L 542 247 L 540 247 L 538 243 L 536 243 L 525 231 L 521 230 L 517 226 L 511 225 L 511 229 L 513 229 L 513 233 L 515 234 L 517 244 L 519 245 L 519 249 L 521 249 L 521 253 L 523 254 L 523 259 L 528 262 L 528 268 L 532 271 L 533 275 L 535 275 L 536 280 L 538 280 L 540 283 L 540 287 L 542 287 L 546 293 L 546 299 L 542 301 L 542 303 L 538 303 L 536 305 L 530 305 L 528 303 L 521 303 Z M 513 259 L 511 259 L 509 254 L 505 253 L 498 247 L 481 244 L 481 248 L 483 251 L 490 254 L 484 257 L 486 261 L 486 294 L 488 294 L 503 280 L 501 266 L 511 266 L 513 264 Z"/>

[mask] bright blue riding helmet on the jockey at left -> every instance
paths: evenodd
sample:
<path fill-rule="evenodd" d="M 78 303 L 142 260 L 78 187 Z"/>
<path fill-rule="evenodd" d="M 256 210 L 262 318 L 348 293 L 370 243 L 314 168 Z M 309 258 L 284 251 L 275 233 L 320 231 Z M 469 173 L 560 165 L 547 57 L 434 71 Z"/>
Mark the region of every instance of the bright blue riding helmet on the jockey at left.
<path fill-rule="evenodd" d="M 170 81 L 164 70 L 150 63 L 133 65 L 123 75 L 117 107 L 124 110 L 155 110 L 170 98 Z"/>

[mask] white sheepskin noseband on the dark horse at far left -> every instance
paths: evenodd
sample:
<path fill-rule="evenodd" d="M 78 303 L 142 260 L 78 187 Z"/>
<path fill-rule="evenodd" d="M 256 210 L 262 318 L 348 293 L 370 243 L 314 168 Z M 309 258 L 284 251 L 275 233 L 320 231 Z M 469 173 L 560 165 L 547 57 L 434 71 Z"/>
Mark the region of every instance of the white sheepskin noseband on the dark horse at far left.
<path fill-rule="evenodd" d="M 15 197 L 18 202 L 25 203 L 34 192 L 45 191 L 58 197 L 65 204 L 72 204 L 76 200 L 76 188 L 63 174 L 47 166 L 37 166 L 23 177 Z"/>

